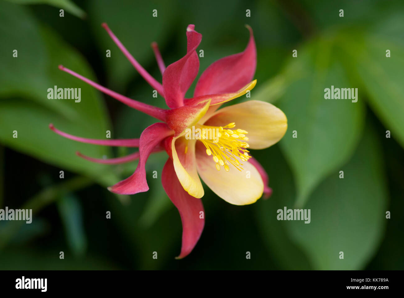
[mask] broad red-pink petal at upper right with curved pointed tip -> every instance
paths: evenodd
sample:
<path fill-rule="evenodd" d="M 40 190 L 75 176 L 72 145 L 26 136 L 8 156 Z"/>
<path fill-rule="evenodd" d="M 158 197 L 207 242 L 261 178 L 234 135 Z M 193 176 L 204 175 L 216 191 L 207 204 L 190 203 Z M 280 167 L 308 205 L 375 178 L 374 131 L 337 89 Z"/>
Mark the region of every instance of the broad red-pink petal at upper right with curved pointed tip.
<path fill-rule="evenodd" d="M 257 50 L 250 30 L 246 49 L 238 54 L 224 57 L 211 64 L 200 76 L 194 97 L 206 94 L 232 93 L 252 81 L 257 67 Z"/>

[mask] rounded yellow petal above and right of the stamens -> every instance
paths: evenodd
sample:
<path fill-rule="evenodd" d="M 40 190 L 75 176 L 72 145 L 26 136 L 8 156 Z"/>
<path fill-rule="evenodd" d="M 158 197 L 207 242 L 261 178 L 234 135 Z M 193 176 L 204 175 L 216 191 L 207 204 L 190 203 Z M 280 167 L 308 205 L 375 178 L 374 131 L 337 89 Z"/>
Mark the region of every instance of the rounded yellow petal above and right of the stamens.
<path fill-rule="evenodd" d="M 285 114 L 265 101 L 246 101 L 217 110 L 205 125 L 223 126 L 236 122 L 236 128 L 248 131 L 250 149 L 264 149 L 277 143 L 288 128 Z"/>

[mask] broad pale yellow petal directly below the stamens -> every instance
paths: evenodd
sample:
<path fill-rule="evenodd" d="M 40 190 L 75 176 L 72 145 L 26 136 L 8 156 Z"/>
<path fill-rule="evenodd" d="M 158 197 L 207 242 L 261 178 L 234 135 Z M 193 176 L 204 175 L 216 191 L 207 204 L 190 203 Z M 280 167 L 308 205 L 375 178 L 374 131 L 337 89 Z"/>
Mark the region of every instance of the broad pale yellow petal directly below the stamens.
<path fill-rule="evenodd" d="M 241 162 L 242 171 L 234 166 L 217 170 L 212 157 L 206 155 L 201 142 L 196 143 L 196 163 L 198 174 L 206 185 L 219 197 L 234 205 L 255 203 L 263 194 L 264 183 L 255 166 Z M 228 170 L 228 171 L 227 171 Z"/>

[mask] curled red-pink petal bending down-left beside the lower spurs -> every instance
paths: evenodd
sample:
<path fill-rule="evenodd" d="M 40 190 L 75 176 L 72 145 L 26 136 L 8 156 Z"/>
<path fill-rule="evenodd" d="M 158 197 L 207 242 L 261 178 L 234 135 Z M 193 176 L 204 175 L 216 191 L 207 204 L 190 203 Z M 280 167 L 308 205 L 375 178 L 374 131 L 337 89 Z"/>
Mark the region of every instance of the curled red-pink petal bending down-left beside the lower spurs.
<path fill-rule="evenodd" d="M 108 187 L 109 191 L 121 195 L 133 195 L 135 193 L 148 191 L 149 186 L 147 185 L 145 170 L 147 158 L 164 138 L 173 133 L 173 130 L 171 130 L 167 124 L 160 122 L 152 124 L 143 130 L 140 135 L 139 164 L 137 164 L 135 172 L 125 180 L 120 181 L 112 187 Z"/>

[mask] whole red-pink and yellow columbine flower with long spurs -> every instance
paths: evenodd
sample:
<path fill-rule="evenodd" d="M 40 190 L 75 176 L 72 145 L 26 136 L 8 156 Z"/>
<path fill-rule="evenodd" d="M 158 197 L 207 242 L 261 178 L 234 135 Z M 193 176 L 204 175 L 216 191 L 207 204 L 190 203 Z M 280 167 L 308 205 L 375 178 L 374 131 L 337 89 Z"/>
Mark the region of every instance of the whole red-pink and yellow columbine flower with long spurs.
<path fill-rule="evenodd" d="M 60 65 L 59 69 L 162 122 L 147 127 L 140 139 L 120 140 L 84 139 L 57 130 L 52 124 L 49 127 L 54 132 L 79 142 L 139 147 L 137 153 L 107 160 L 77 153 L 92 162 L 103 164 L 119 164 L 139 158 L 137 168 L 130 177 L 108 188 L 114 193 L 130 195 L 149 190 L 145 163 L 151 153 L 165 150 L 169 158 L 163 168 L 162 185 L 181 216 L 182 247 L 177 258 L 183 258 L 192 251 L 204 227 L 204 208 L 200 199 L 204 195 L 204 189 L 200 178 L 219 197 L 235 205 L 252 204 L 263 194 L 268 197 L 272 193 L 267 186 L 268 176 L 265 170 L 249 155 L 248 148 L 264 149 L 277 143 L 286 132 L 286 116 L 274 105 L 254 100 L 218 110 L 223 103 L 246 94 L 256 84 L 256 80 L 252 78 L 257 65 L 257 53 L 249 26 L 250 40 L 244 52 L 224 57 L 210 65 L 200 76 L 194 97 L 190 99 L 185 99 L 184 96 L 198 74 L 199 58 L 196 48 L 202 40 L 202 34 L 194 30 L 194 25 L 187 27 L 186 55 L 167 68 L 157 44 L 152 43 L 163 76 L 162 84 L 141 67 L 107 24 L 103 23 L 102 26 L 141 76 L 164 97 L 170 109 L 160 109 L 135 101 Z M 185 130 L 192 126 L 217 128 L 219 139 L 217 142 L 185 139 Z"/>

